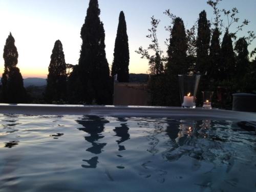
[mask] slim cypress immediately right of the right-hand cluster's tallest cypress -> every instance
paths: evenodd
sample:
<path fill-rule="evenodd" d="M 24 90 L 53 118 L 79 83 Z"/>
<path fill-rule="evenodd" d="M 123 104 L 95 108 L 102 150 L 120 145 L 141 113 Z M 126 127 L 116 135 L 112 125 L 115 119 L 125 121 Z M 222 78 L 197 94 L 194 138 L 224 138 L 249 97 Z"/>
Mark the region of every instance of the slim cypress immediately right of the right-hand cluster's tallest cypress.
<path fill-rule="evenodd" d="M 215 28 L 211 41 L 210 41 L 210 68 L 207 73 L 207 77 L 214 81 L 219 81 L 221 79 L 221 46 L 220 46 L 220 31 Z"/>

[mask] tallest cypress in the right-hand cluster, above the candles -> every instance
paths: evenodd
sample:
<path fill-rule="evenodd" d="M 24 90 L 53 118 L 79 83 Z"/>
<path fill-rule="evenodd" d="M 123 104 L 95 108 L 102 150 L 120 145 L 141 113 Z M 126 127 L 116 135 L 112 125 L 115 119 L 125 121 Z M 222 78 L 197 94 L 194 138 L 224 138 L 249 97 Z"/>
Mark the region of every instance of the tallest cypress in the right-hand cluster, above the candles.
<path fill-rule="evenodd" d="M 199 14 L 197 34 L 196 71 L 200 72 L 202 75 L 206 75 L 207 65 L 209 65 L 210 22 L 207 20 L 205 11 Z"/>

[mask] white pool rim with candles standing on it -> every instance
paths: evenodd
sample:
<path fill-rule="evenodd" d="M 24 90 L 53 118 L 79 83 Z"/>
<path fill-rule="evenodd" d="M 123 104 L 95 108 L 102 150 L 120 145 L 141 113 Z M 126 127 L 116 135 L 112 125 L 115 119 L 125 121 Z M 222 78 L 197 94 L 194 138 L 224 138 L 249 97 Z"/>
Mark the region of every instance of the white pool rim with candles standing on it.
<path fill-rule="evenodd" d="M 0 103 L 0 114 L 22 115 L 106 115 L 154 116 L 173 118 L 218 118 L 237 121 L 256 121 L 256 113 L 202 108 L 183 109 L 164 106 L 113 106 L 113 105 L 53 105 Z"/>

